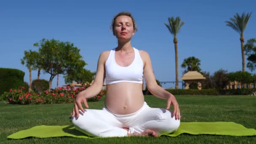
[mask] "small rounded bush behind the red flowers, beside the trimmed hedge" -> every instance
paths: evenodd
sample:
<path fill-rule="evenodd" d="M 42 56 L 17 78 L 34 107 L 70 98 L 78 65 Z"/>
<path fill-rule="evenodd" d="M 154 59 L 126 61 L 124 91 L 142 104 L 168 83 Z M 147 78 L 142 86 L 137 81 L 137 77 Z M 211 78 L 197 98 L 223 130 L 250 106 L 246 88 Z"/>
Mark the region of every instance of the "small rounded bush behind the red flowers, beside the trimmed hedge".
<path fill-rule="evenodd" d="M 47 80 L 33 80 L 31 88 L 37 94 L 42 94 L 45 90 L 49 89 L 49 82 Z"/>

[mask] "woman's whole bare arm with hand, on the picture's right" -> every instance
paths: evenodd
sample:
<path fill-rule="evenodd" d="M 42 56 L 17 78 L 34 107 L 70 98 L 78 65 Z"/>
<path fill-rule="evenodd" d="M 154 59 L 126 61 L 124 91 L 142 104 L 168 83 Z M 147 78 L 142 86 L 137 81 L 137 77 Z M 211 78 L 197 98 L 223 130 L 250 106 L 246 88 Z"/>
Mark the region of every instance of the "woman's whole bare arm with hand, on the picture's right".
<path fill-rule="evenodd" d="M 173 116 L 175 116 L 175 119 L 179 120 L 181 118 L 181 115 L 179 110 L 179 104 L 175 96 L 157 85 L 149 54 L 146 51 L 140 51 L 140 55 L 144 62 L 143 75 L 145 77 L 148 90 L 156 97 L 167 100 L 166 109 L 170 109 L 170 106 L 173 105 Z"/>

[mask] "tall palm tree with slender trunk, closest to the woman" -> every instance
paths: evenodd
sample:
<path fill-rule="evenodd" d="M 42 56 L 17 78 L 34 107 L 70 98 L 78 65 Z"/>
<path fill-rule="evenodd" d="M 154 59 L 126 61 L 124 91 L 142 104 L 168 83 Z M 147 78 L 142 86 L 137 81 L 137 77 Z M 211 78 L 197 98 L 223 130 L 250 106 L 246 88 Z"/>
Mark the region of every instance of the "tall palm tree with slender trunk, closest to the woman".
<path fill-rule="evenodd" d="M 165 23 L 165 26 L 173 35 L 173 43 L 175 47 L 175 68 L 176 68 L 175 88 L 178 89 L 179 88 L 179 69 L 178 69 L 179 61 L 178 61 L 178 40 L 176 36 L 185 22 L 184 21 L 181 22 L 181 19 L 179 18 L 179 16 L 177 16 L 176 19 L 174 19 L 174 17 L 168 18 L 168 21 L 169 21 L 169 25 Z"/>

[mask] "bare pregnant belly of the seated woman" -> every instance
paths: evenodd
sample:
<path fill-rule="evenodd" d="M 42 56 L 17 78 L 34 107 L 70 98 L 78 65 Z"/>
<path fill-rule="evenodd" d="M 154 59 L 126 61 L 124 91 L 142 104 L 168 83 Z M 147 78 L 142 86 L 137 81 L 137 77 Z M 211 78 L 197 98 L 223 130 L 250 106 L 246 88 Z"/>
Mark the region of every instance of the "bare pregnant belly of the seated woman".
<path fill-rule="evenodd" d="M 107 85 L 105 106 L 117 115 L 137 112 L 144 103 L 141 83 L 121 82 Z"/>

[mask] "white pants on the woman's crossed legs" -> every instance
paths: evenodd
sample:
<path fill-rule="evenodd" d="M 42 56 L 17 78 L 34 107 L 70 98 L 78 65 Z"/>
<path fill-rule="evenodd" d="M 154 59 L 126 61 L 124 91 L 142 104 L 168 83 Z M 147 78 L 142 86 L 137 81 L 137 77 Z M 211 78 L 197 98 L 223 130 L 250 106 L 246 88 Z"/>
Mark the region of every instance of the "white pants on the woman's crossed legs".
<path fill-rule="evenodd" d="M 88 136 L 113 137 L 127 136 L 128 133 L 141 133 L 146 129 L 155 131 L 158 135 L 171 133 L 179 128 L 180 120 L 171 117 L 172 112 L 166 109 L 151 108 L 144 105 L 137 112 L 128 115 L 116 115 L 106 107 L 99 109 L 85 109 L 79 117 L 74 117 L 72 123 L 75 128 Z"/>

